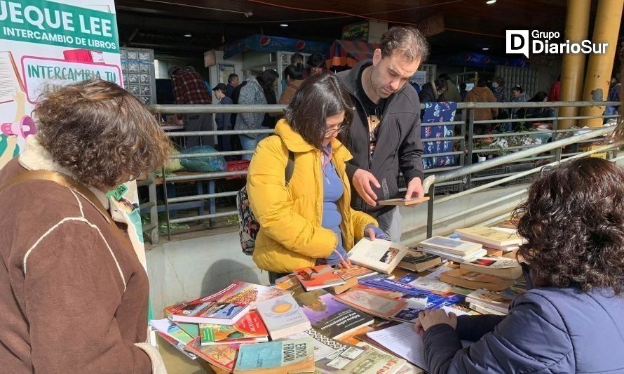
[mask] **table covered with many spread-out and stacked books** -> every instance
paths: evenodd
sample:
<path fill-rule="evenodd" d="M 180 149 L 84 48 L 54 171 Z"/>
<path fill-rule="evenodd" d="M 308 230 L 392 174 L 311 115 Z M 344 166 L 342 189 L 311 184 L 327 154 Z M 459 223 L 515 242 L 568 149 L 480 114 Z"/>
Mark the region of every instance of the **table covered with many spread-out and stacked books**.
<path fill-rule="evenodd" d="M 351 269 L 298 269 L 273 286 L 234 282 L 166 307 L 151 330 L 163 356 L 188 365 L 178 373 L 196 373 L 191 362 L 217 373 L 423 373 L 419 312 L 504 315 L 524 292 L 522 238 L 503 226 L 415 248 L 362 239 Z"/>

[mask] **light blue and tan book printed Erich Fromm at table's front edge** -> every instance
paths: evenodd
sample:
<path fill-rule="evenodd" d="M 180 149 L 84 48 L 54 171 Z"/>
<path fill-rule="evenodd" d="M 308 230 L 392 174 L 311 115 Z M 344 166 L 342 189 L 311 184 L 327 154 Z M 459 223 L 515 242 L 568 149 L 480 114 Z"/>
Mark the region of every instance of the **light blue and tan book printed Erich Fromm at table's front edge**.
<path fill-rule="evenodd" d="M 314 371 L 312 338 L 241 345 L 234 373 L 304 373 Z"/>

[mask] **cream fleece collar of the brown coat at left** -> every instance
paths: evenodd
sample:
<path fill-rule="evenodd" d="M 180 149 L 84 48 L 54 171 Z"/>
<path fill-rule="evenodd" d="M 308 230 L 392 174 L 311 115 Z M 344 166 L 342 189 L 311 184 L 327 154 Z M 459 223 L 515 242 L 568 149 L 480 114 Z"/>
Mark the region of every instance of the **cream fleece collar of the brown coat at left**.
<path fill-rule="evenodd" d="M 39 139 L 35 136 L 29 136 L 26 139 L 26 147 L 24 152 L 20 154 L 18 157 L 18 162 L 21 166 L 26 168 L 27 170 L 46 170 L 46 171 L 55 171 L 57 173 L 62 173 L 74 178 L 74 175 L 69 169 L 60 166 L 52 159 L 52 154 L 48 152 L 48 149 L 44 148 L 43 145 L 39 142 Z M 88 189 L 97 196 L 97 199 L 100 200 L 104 208 L 109 209 L 109 199 L 107 198 L 104 192 L 100 191 L 100 189 L 96 189 L 90 186 L 87 186 Z"/>

